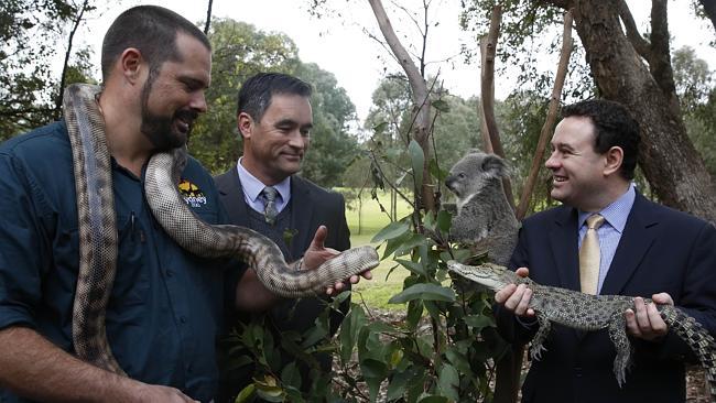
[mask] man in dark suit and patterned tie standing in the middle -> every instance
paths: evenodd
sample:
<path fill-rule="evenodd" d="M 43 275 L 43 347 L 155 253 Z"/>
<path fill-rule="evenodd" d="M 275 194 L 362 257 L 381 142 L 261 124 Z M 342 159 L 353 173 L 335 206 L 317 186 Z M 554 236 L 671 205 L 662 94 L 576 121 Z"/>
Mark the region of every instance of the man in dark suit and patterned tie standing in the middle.
<path fill-rule="evenodd" d="M 271 238 L 286 261 L 300 259 L 316 231 L 327 248 L 350 248 L 343 196 L 295 175 L 311 140 L 311 92 L 308 84 L 284 74 L 262 73 L 247 79 L 239 91 L 237 122 L 243 155 L 236 166 L 215 178 L 231 222 Z M 304 334 L 325 308 L 324 298 L 285 301 L 268 313 L 264 323 L 273 330 L 278 346 L 280 333 Z M 347 302 L 343 308 L 343 313 L 332 312 L 330 334 L 340 324 Z M 284 364 L 295 359 L 285 350 L 282 355 Z M 330 356 L 316 358 L 321 369 L 329 372 Z M 305 390 L 315 377 L 307 366 L 301 372 Z M 240 391 L 251 382 L 250 375 L 250 369 L 245 370 L 239 375 L 242 380 L 232 382 L 230 389 Z"/>

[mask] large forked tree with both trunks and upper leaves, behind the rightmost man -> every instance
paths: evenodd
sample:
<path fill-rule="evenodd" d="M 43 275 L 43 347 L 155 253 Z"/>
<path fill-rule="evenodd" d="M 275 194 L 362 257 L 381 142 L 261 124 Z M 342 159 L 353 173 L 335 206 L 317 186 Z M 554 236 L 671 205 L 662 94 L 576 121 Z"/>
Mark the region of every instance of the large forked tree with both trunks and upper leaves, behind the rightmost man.
<path fill-rule="evenodd" d="M 576 30 L 599 96 L 625 104 L 643 133 L 640 166 L 659 199 L 716 222 L 716 185 L 686 134 L 671 66 L 666 0 L 651 2 L 651 32 L 638 32 L 623 0 L 473 0 L 466 15 L 503 7 L 514 52 L 543 35 L 562 10 L 574 10 Z M 508 17 L 510 15 L 510 17 Z M 637 63 L 634 63 L 637 61 Z"/>

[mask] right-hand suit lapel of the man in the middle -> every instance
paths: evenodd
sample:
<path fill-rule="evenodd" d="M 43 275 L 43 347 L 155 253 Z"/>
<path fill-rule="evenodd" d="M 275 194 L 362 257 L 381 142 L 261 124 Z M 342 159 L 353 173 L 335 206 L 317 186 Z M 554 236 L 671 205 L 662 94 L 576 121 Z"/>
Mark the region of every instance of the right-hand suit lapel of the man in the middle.
<path fill-rule="evenodd" d="M 299 232 L 291 241 L 291 253 L 302 257 L 313 240 L 313 210 L 315 206 L 308 186 L 303 179 L 294 175 L 291 177 L 291 229 Z"/>

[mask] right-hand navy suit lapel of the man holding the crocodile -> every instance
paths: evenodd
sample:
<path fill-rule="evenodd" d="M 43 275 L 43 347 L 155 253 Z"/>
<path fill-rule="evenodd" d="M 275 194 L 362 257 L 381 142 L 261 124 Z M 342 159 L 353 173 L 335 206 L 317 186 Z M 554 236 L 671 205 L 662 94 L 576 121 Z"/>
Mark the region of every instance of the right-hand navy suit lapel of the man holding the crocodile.
<path fill-rule="evenodd" d="M 601 294 L 620 294 L 654 241 L 658 224 L 649 200 L 637 193 L 619 246 L 601 286 Z"/>

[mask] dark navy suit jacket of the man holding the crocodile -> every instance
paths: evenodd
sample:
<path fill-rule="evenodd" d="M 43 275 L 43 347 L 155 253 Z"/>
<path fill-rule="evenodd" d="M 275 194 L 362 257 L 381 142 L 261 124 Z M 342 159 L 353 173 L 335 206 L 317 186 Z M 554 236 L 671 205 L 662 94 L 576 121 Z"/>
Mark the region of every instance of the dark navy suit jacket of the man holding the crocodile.
<path fill-rule="evenodd" d="M 524 220 L 511 269 L 527 266 L 544 285 L 579 290 L 577 211 L 562 206 Z M 637 194 L 600 294 L 651 297 L 666 292 L 716 335 L 716 229 Z M 497 308 L 506 338 L 525 342 L 525 328 Z M 684 402 L 688 347 L 670 333 L 660 342 L 631 338 L 632 366 L 619 389 L 607 330 L 581 333 L 553 324 L 541 360 L 533 360 L 522 402 Z"/>

